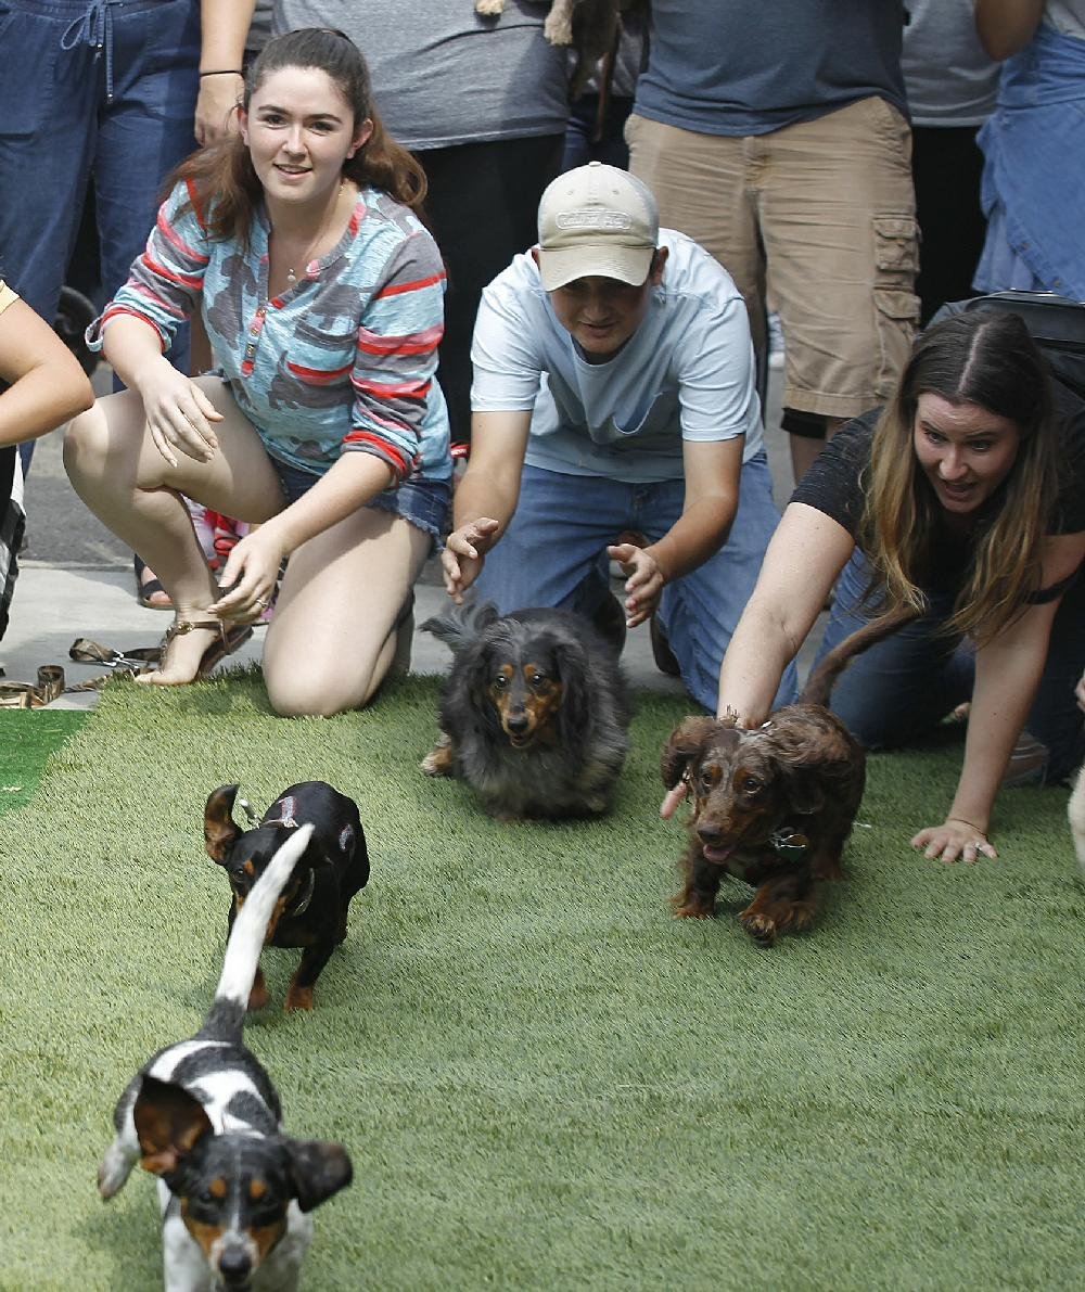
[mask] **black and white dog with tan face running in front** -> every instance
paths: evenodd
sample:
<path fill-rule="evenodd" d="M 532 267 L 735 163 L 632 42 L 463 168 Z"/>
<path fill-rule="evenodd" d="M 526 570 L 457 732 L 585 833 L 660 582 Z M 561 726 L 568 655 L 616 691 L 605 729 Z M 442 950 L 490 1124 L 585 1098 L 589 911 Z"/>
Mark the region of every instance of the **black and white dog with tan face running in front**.
<path fill-rule="evenodd" d="M 167 1292 L 293 1292 L 307 1212 L 350 1183 L 341 1145 L 282 1133 L 275 1087 L 242 1040 L 267 921 L 311 833 L 292 833 L 238 912 L 203 1027 L 159 1050 L 114 1112 L 98 1191 L 112 1198 L 137 1160 L 159 1177 Z"/>

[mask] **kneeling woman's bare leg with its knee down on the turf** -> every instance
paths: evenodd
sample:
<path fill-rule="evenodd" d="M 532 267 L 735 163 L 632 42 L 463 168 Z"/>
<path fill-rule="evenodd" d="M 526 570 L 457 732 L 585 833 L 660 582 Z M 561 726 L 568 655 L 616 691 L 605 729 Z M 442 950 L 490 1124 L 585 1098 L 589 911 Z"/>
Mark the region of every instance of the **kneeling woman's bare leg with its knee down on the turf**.
<path fill-rule="evenodd" d="M 293 553 L 264 646 L 278 713 L 331 716 L 372 698 L 429 550 L 409 521 L 363 506 Z"/>

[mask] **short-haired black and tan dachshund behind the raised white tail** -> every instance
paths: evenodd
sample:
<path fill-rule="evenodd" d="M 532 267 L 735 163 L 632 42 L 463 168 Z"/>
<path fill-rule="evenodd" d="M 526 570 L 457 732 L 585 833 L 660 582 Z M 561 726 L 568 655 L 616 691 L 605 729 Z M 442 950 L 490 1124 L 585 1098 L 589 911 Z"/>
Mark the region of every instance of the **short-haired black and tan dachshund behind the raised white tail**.
<path fill-rule="evenodd" d="M 234 890 L 231 929 L 253 884 L 283 842 L 298 826 L 314 827 L 313 840 L 275 906 L 265 939 L 273 947 L 304 948 L 285 1008 L 311 1009 L 313 986 L 346 937 L 350 899 L 369 880 L 369 854 L 358 805 L 323 780 L 306 780 L 284 789 L 261 820 L 243 831 L 231 815 L 236 796 L 238 786 L 220 786 L 204 808 L 208 857 L 223 867 Z M 257 965 L 249 1008 L 266 1004 L 267 986 Z"/>

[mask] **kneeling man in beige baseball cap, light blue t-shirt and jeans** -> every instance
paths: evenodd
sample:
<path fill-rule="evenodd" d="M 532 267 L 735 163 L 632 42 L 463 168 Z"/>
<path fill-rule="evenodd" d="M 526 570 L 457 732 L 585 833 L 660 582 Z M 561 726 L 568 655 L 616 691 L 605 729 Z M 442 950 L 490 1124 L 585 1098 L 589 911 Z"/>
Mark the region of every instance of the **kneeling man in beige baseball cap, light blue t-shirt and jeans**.
<path fill-rule="evenodd" d="M 641 181 L 593 162 L 542 194 L 539 245 L 483 292 L 471 362 L 450 594 L 475 584 L 501 614 L 576 610 L 616 641 L 651 619 L 661 667 L 714 712 L 779 519 L 730 275 L 659 227 Z M 608 558 L 626 575 L 623 605 Z M 792 671 L 778 699 L 793 695 Z"/>

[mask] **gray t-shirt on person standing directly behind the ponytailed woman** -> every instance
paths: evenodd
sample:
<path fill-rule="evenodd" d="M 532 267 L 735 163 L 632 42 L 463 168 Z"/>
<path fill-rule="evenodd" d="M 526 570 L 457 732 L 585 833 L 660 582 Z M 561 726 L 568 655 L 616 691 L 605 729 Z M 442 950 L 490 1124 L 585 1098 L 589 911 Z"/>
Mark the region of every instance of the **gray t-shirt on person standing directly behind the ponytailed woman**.
<path fill-rule="evenodd" d="M 337 27 L 369 63 L 393 137 L 415 151 L 562 134 L 566 52 L 542 37 L 548 4 L 505 0 L 483 18 L 473 0 L 275 0 L 275 34 Z"/>

